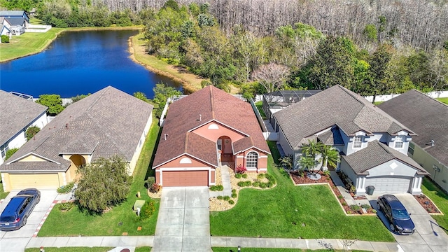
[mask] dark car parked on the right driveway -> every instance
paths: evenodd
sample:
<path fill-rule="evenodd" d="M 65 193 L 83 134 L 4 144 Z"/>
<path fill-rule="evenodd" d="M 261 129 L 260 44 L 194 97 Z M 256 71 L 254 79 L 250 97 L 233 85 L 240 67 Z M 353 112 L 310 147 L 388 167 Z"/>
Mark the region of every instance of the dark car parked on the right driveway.
<path fill-rule="evenodd" d="M 382 195 L 378 197 L 377 207 L 390 221 L 392 232 L 398 232 L 400 235 L 412 235 L 414 233 L 414 222 L 397 197 Z"/>

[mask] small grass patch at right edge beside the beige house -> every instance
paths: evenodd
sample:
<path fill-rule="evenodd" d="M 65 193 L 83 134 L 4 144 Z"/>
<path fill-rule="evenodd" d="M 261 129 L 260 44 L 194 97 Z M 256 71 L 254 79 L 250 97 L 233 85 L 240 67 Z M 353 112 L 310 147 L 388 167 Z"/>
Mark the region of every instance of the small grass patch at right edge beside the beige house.
<path fill-rule="evenodd" d="M 432 217 L 448 234 L 448 195 L 428 178 L 423 179 L 423 183 L 421 183 L 421 191 L 429 197 L 444 214 L 432 215 Z"/>

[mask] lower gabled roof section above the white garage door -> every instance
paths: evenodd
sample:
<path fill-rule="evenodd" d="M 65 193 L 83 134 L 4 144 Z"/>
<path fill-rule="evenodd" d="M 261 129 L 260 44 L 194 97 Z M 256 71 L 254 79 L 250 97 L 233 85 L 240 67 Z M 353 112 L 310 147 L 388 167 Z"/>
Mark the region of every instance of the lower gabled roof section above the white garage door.
<path fill-rule="evenodd" d="M 370 141 L 367 147 L 352 153 L 351 155 L 342 155 L 342 158 L 350 165 L 356 174 L 365 174 L 367 170 L 377 167 L 391 160 L 400 160 L 406 163 L 409 167 L 416 169 L 418 174 L 428 175 L 417 162 L 409 158 L 407 155 L 395 151 L 393 148 L 381 144 L 379 141 Z"/>

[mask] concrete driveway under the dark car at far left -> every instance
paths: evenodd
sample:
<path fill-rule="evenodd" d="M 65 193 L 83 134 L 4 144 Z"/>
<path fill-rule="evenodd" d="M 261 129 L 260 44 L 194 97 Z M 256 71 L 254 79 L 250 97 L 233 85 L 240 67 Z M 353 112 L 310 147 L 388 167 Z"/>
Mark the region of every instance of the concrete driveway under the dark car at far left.
<path fill-rule="evenodd" d="M 11 197 L 17 195 L 19 190 L 13 190 L 0 205 L 0 211 L 3 212 Z M 29 239 L 34 235 L 43 216 L 47 213 L 52 202 L 57 196 L 56 190 L 41 190 L 41 201 L 36 204 L 31 215 L 28 217 L 27 225 L 20 230 L 3 232 L 0 231 L 0 250 L 1 251 L 25 251 Z"/>

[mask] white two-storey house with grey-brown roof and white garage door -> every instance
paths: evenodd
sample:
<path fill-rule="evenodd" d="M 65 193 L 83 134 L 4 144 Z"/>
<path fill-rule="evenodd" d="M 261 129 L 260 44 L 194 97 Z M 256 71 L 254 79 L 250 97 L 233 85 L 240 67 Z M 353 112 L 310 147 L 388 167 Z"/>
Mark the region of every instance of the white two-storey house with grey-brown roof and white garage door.
<path fill-rule="evenodd" d="M 295 168 L 302 145 L 315 140 L 339 150 L 336 168 L 350 177 L 357 194 L 367 186 L 377 193 L 421 193 L 421 179 L 428 173 L 407 157 L 416 134 L 360 95 L 335 85 L 274 117 L 279 144 L 293 155 Z"/>

